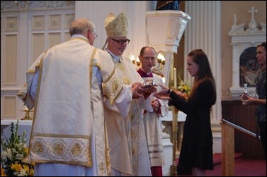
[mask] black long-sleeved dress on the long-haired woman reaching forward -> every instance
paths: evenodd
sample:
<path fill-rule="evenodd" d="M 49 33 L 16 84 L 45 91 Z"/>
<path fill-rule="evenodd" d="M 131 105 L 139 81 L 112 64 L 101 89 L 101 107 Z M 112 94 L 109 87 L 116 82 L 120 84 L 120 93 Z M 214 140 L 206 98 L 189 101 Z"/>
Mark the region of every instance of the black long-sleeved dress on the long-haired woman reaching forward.
<path fill-rule="evenodd" d="M 213 170 L 210 109 L 215 104 L 215 98 L 212 97 L 214 90 L 212 80 L 205 79 L 188 101 L 174 92 L 170 94 L 171 104 L 187 114 L 177 166 L 178 174 L 182 174 L 183 169 L 191 171 L 192 167 Z"/>

